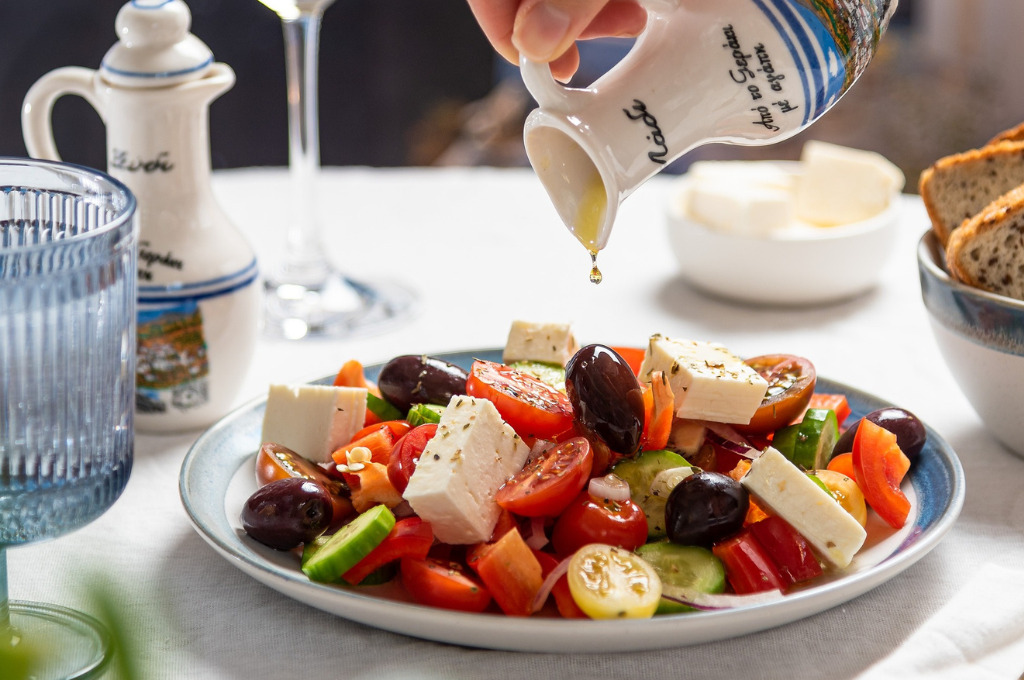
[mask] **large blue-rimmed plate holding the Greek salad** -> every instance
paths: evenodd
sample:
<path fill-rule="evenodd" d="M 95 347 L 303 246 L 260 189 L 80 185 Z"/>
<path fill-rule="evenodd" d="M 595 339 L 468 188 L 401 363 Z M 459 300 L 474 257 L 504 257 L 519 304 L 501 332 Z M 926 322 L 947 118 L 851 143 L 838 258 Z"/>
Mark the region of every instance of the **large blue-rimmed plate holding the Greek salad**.
<path fill-rule="evenodd" d="M 500 350 L 439 354 L 468 368 L 474 358 L 501 359 Z M 374 379 L 380 367 L 370 367 Z M 334 376 L 325 378 L 330 383 Z M 842 392 L 851 419 L 890 406 L 820 379 L 821 392 Z M 539 614 L 518 619 L 463 613 L 414 604 L 394 587 L 346 588 L 310 582 L 295 555 L 270 550 L 242 530 L 239 513 L 256 491 L 254 460 L 264 399 L 252 401 L 207 430 L 185 456 L 179 491 L 200 535 L 231 564 L 287 597 L 395 633 L 488 649 L 555 652 L 639 651 L 722 640 L 787 624 L 851 600 L 889 581 L 929 553 L 956 521 L 964 505 L 964 470 L 930 427 L 928 442 L 903 491 L 911 501 L 906 525 L 893 532 L 870 516 L 868 540 L 853 563 L 810 588 L 768 603 L 649 620 L 581 621 Z M 927 427 L 927 426 L 926 426 Z"/>

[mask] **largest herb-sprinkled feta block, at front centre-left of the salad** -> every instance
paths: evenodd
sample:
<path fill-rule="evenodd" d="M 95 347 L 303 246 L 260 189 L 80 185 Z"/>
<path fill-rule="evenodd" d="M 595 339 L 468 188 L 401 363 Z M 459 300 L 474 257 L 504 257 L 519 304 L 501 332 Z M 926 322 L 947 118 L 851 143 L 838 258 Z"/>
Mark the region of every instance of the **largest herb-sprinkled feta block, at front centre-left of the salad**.
<path fill-rule="evenodd" d="M 452 397 L 403 496 L 447 544 L 486 541 L 501 509 L 495 494 L 518 472 L 527 447 L 486 399 Z"/>

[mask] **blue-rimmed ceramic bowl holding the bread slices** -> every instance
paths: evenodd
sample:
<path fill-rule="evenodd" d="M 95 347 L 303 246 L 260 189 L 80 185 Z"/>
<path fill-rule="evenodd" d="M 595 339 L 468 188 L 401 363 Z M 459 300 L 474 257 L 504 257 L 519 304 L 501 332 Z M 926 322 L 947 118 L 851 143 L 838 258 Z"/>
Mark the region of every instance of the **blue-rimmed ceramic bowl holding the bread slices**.
<path fill-rule="evenodd" d="M 991 433 L 1024 456 L 1024 301 L 953 281 L 931 231 L 918 245 L 918 270 L 946 366 Z"/>

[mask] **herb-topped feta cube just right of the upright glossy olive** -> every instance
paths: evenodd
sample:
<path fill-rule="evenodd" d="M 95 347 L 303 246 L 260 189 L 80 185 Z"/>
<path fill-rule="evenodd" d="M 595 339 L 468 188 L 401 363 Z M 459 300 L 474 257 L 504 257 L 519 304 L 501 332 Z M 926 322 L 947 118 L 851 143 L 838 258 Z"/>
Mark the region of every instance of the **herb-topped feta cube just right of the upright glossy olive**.
<path fill-rule="evenodd" d="M 653 335 L 640 366 L 640 380 L 665 373 L 676 399 L 676 416 L 746 424 L 768 390 L 757 371 L 723 345 Z"/>

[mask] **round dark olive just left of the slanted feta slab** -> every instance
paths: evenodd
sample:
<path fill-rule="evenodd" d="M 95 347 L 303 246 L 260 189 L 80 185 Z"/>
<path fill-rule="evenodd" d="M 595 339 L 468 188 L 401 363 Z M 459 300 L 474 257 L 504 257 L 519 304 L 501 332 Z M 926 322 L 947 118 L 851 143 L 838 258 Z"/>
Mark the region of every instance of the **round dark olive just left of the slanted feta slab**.
<path fill-rule="evenodd" d="M 751 499 L 738 481 L 719 472 L 700 471 L 676 484 L 665 506 L 669 540 L 710 547 L 743 526 Z"/>

